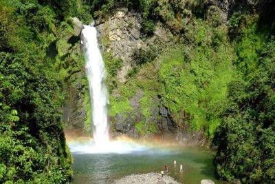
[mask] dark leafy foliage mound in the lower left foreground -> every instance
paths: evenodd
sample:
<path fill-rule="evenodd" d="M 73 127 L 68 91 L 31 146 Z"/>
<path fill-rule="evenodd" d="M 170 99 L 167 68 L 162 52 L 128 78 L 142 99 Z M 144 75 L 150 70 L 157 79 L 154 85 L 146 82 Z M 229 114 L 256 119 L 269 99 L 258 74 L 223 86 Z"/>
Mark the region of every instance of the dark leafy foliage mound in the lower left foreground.
<path fill-rule="evenodd" d="M 58 81 L 43 65 L 21 62 L 23 54 L 0 52 L 0 59 L 1 183 L 67 181 L 72 159 L 58 110 L 63 101 Z"/>

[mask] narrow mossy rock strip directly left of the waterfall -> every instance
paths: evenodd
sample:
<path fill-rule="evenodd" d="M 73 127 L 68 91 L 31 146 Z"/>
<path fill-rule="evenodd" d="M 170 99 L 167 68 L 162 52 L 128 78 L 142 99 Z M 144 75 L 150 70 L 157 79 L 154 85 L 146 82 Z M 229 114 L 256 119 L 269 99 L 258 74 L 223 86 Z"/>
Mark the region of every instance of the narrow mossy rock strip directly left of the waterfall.
<path fill-rule="evenodd" d="M 78 27 L 82 28 L 78 23 Z M 89 134 L 91 130 L 91 108 L 89 86 L 85 74 L 84 53 L 80 35 L 75 32 L 74 19 L 63 22 L 56 41 L 56 68 L 61 68 L 59 76 L 65 81 L 66 100 L 63 105 L 65 127 Z"/>

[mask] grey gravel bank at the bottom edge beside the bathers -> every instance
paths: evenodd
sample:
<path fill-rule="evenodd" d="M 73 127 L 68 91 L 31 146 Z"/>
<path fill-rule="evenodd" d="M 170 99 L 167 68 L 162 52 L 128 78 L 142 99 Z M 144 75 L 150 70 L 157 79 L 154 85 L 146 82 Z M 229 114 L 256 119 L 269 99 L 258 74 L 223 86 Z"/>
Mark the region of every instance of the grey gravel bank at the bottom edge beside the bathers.
<path fill-rule="evenodd" d="M 165 183 L 172 183 L 172 184 L 178 184 L 177 181 L 174 180 L 174 178 L 170 176 L 160 176 L 160 174 L 157 174 L 155 172 L 147 173 L 147 174 L 132 174 L 129 176 L 125 176 L 124 178 L 121 178 L 117 181 L 115 181 L 115 184 L 125 184 L 125 183 L 131 183 L 131 184 L 140 184 L 140 183 L 146 183 L 146 184 L 165 184 Z"/>

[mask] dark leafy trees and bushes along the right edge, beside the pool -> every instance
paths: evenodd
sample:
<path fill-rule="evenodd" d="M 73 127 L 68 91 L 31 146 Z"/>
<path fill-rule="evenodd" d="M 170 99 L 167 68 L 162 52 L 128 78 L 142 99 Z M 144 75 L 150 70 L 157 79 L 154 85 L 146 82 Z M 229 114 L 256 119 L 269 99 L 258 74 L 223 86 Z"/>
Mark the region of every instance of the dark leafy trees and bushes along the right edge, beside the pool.
<path fill-rule="evenodd" d="M 273 183 L 275 41 L 269 32 L 274 30 L 257 20 L 248 19 L 235 41 L 235 65 L 242 77 L 228 85 L 228 107 L 214 137 L 215 162 L 226 180 Z"/>

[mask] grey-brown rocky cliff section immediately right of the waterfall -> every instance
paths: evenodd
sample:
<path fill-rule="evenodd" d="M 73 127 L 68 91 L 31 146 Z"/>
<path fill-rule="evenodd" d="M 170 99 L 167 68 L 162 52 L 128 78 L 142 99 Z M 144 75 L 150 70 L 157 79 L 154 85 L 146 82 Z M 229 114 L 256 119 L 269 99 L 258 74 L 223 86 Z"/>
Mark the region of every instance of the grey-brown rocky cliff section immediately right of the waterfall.
<path fill-rule="evenodd" d="M 157 136 L 181 143 L 204 143 L 203 135 L 187 132 L 184 119 L 170 114 L 157 94 L 162 88 L 157 76 L 160 68 L 157 58 L 162 50 L 173 47 L 173 34 L 159 22 L 154 34 L 145 38 L 141 23 L 140 13 L 126 9 L 117 10 L 104 22 L 97 23 L 108 72 L 109 121 L 113 136 Z M 147 63 L 148 60 L 153 62 Z M 119 61 L 120 65 L 114 66 L 114 61 Z M 115 72 L 110 74 L 114 67 Z"/>

